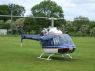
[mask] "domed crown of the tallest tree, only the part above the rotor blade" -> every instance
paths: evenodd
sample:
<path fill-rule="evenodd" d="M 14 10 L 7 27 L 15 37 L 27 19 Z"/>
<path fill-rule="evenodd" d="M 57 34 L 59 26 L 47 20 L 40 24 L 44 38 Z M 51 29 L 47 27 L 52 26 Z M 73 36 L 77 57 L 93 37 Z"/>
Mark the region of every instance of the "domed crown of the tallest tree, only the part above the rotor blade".
<path fill-rule="evenodd" d="M 64 17 L 62 8 L 51 0 L 40 2 L 31 11 L 33 16 Z"/>

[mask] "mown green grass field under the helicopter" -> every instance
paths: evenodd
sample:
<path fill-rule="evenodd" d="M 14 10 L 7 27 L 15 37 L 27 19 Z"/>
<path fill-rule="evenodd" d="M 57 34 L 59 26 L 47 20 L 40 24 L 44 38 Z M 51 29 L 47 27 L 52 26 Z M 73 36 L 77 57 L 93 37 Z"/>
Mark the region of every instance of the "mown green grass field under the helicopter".
<path fill-rule="evenodd" d="M 52 61 L 36 57 L 42 52 L 39 42 L 20 37 L 0 37 L 0 71 L 95 71 L 95 37 L 73 37 L 77 49 L 73 59 L 55 55 Z"/>

